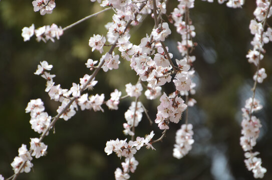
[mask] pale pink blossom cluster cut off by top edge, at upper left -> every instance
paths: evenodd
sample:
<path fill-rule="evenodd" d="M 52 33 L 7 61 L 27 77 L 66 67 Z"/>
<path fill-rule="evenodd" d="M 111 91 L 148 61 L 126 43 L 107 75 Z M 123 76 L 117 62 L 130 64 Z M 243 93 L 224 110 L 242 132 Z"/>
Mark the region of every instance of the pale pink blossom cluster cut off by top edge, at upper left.
<path fill-rule="evenodd" d="M 55 0 L 33 0 L 32 5 L 35 12 L 40 10 L 41 15 L 45 15 L 46 13 L 52 13 L 56 3 Z"/>

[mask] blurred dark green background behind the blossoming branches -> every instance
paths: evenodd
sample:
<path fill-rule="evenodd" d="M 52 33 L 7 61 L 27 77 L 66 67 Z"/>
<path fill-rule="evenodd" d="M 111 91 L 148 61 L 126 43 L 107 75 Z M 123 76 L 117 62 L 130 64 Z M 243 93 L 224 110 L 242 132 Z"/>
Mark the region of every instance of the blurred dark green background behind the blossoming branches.
<path fill-rule="evenodd" d="M 176 1 L 169 3 L 168 14 L 176 4 Z M 24 42 L 22 28 L 32 23 L 36 28 L 52 23 L 65 27 L 100 9 L 97 2 L 90 0 L 57 0 L 53 13 L 42 16 L 33 11 L 31 1 L 0 2 L 0 173 L 6 178 L 14 173 L 10 164 L 22 143 L 29 147 L 30 137 L 39 137 L 31 129 L 30 114 L 25 113 L 27 103 L 30 99 L 42 98 L 46 111 L 52 116 L 57 114 L 60 105 L 50 100 L 44 91 L 46 81 L 34 74 L 37 65 L 43 60 L 53 64 L 51 73 L 56 74 L 54 80 L 63 88 L 70 88 L 72 82 L 79 82 L 86 73 L 91 74 L 85 62 L 88 58 L 98 60 L 101 54 L 91 51 L 89 38 L 94 33 L 106 35 L 104 24 L 111 21 L 113 11 L 66 30 L 55 43 L 37 42 L 35 37 Z M 228 8 L 217 2 L 195 2 L 195 8 L 190 11 L 196 31 L 194 41 L 198 43 L 192 53 L 196 56 L 194 81 L 197 87 L 193 97 L 197 104 L 189 108 L 189 123 L 194 126 L 193 148 L 181 159 L 172 156 L 175 133 L 184 120 L 179 124 L 172 123 L 163 142 L 154 144 L 156 150 L 142 148 L 136 153 L 139 165 L 135 173 L 130 174 L 130 179 L 253 179 L 252 172 L 244 165 L 239 138 L 240 109 L 245 99 L 252 95 L 250 89 L 255 72 L 255 66 L 245 58 L 251 48 L 253 36 L 248 25 L 254 9 L 255 3 L 249 0 L 242 9 Z M 133 27 L 131 42 L 139 44 L 140 39 L 151 32 L 153 24 L 153 19 L 147 16 L 142 24 Z M 180 35 L 173 24 L 170 28 L 172 34 L 166 44 L 174 58 L 180 59 L 176 48 Z M 256 90 L 256 97 L 264 108 L 256 113 L 262 127 L 254 150 L 260 152 L 262 166 L 267 169 L 263 179 L 272 179 L 272 45 L 268 43 L 264 47 L 266 53 L 261 67 L 265 67 L 267 78 Z M 129 62 L 122 59 L 118 70 L 100 71 L 96 80 L 98 84 L 89 93 L 105 93 L 105 99 L 108 99 L 115 88 L 125 95 L 125 84 L 135 84 L 137 76 Z M 173 89 L 172 83 L 164 87 L 168 93 Z M 34 159 L 33 170 L 22 173 L 18 179 L 114 179 L 114 171 L 121 167 L 124 159 L 120 160 L 115 154 L 107 156 L 104 148 L 107 140 L 126 138 L 122 124 L 124 112 L 132 100 L 122 100 L 118 111 L 103 106 L 104 113 L 79 110 L 68 121 L 59 119 L 56 133 L 51 131 L 44 140 L 48 145 L 47 156 Z M 150 117 L 155 119 L 158 99 L 141 98 L 141 101 Z M 136 135 L 144 136 L 151 130 L 154 130 L 155 138 L 160 136 L 157 124 L 150 126 L 143 114 Z"/>

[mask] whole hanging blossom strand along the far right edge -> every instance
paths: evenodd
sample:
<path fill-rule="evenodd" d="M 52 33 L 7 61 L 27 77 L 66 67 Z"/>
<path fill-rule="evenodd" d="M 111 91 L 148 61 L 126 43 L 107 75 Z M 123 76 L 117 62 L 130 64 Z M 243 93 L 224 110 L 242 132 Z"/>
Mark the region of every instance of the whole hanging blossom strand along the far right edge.
<path fill-rule="evenodd" d="M 256 19 L 252 19 L 249 24 L 249 29 L 251 34 L 254 35 L 251 45 L 253 49 L 248 51 L 246 57 L 249 63 L 253 63 L 257 67 L 257 71 L 253 75 L 253 80 L 255 85 L 253 87 L 253 97 L 248 98 L 245 101 L 245 106 L 242 108 L 242 130 L 240 137 L 240 145 L 245 151 L 245 165 L 248 170 L 253 172 L 255 178 L 262 178 L 266 172 L 266 168 L 261 166 L 261 158 L 256 157 L 259 152 L 252 152 L 253 146 L 256 145 L 256 139 L 259 136 L 259 128 L 261 127 L 260 120 L 252 115 L 253 112 L 260 110 L 262 105 L 259 100 L 254 98 L 256 83 L 261 83 L 264 78 L 266 78 L 266 73 L 264 68 L 259 68 L 260 60 L 263 58 L 265 50 L 263 49 L 264 43 L 272 41 L 272 29 L 267 27 L 264 31 L 266 25 L 266 19 L 272 14 L 272 7 L 268 0 L 256 0 L 256 9 L 253 14 Z"/>

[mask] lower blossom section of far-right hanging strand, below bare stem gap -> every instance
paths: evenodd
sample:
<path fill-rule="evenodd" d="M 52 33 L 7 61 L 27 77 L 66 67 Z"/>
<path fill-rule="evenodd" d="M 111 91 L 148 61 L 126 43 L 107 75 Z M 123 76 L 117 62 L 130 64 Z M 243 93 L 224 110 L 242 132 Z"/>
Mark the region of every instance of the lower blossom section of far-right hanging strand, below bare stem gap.
<path fill-rule="evenodd" d="M 252 115 L 253 112 L 260 110 L 262 105 L 257 99 L 251 97 L 245 101 L 245 106 L 242 108 L 243 120 L 241 123 L 242 130 L 240 137 L 240 145 L 245 151 L 244 160 L 248 170 L 252 170 L 255 178 L 262 178 L 266 169 L 261 166 L 261 159 L 255 157 L 259 152 L 251 152 L 253 146 L 256 145 L 256 139 L 259 136 L 259 128 L 261 127 L 260 120 Z"/>

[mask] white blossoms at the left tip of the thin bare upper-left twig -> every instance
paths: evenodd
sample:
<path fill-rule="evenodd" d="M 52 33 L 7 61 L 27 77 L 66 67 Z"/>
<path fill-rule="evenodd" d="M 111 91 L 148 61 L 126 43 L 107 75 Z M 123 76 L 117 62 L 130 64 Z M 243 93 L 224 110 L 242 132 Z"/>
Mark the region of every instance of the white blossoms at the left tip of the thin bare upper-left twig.
<path fill-rule="evenodd" d="M 24 37 L 24 41 L 30 40 L 34 34 L 36 35 L 36 40 L 38 42 L 41 40 L 44 42 L 47 42 L 48 40 L 55 42 L 54 38 L 56 37 L 59 39 L 63 34 L 63 29 L 54 23 L 52 25 L 44 25 L 38 29 L 35 29 L 34 24 L 32 24 L 30 27 L 24 27 L 22 29 L 22 37 Z"/>

